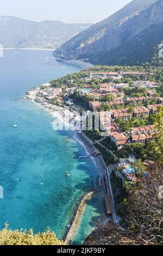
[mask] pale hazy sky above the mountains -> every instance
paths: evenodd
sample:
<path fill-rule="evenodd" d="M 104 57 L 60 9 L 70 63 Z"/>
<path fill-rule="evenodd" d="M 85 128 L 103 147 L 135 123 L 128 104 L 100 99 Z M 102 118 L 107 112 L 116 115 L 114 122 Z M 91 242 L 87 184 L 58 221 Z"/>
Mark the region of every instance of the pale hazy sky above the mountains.
<path fill-rule="evenodd" d="M 27 20 L 96 23 L 120 10 L 131 0 L 0 0 L 0 16 Z"/>

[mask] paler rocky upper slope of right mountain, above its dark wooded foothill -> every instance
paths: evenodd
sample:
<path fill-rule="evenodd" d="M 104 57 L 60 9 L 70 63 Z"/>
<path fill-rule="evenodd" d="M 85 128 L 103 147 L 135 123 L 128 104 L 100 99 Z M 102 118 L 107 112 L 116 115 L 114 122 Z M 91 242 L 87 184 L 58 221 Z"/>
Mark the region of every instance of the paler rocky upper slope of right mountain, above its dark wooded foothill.
<path fill-rule="evenodd" d="M 99 53 L 113 51 L 121 47 L 124 41 L 131 40 L 148 27 L 161 23 L 162 4 L 162 0 L 134 0 L 108 19 L 74 36 L 57 49 L 54 55 L 64 59 L 88 59 L 90 62 L 93 57 L 93 64 L 98 64 Z M 85 40 L 83 40 L 84 35 L 86 35 Z"/>

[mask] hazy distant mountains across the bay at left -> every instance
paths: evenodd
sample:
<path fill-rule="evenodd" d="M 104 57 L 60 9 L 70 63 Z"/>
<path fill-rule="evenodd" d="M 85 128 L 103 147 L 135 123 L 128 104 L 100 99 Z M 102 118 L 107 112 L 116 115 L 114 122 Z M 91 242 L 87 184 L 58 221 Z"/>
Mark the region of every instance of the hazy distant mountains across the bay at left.
<path fill-rule="evenodd" d="M 12 16 L 0 17 L 0 44 L 16 48 L 57 48 L 91 24 L 60 21 L 28 21 Z"/>

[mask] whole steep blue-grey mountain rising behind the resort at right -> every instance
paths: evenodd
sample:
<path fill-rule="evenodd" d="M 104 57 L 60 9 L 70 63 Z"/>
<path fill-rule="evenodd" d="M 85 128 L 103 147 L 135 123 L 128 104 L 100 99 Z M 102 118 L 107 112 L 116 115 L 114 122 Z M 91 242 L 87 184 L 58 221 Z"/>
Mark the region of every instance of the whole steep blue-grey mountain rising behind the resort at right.
<path fill-rule="evenodd" d="M 136 45 L 136 41 L 145 39 L 150 47 L 160 44 L 161 33 L 160 41 L 154 40 L 151 44 L 149 39 L 153 33 L 151 29 L 158 28 L 163 22 L 162 11 L 162 0 L 134 0 L 108 19 L 76 35 L 56 50 L 54 55 L 65 59 L 87 59 L 93 64 L 120 64 L 126 54 L 129 56 L 128 52 L 134 51 L 131 42 L 134 41 Z M 126 62 L 130 64 L 128 57 Z M 138 58 L 133 63 L 137 62 Z"/>

